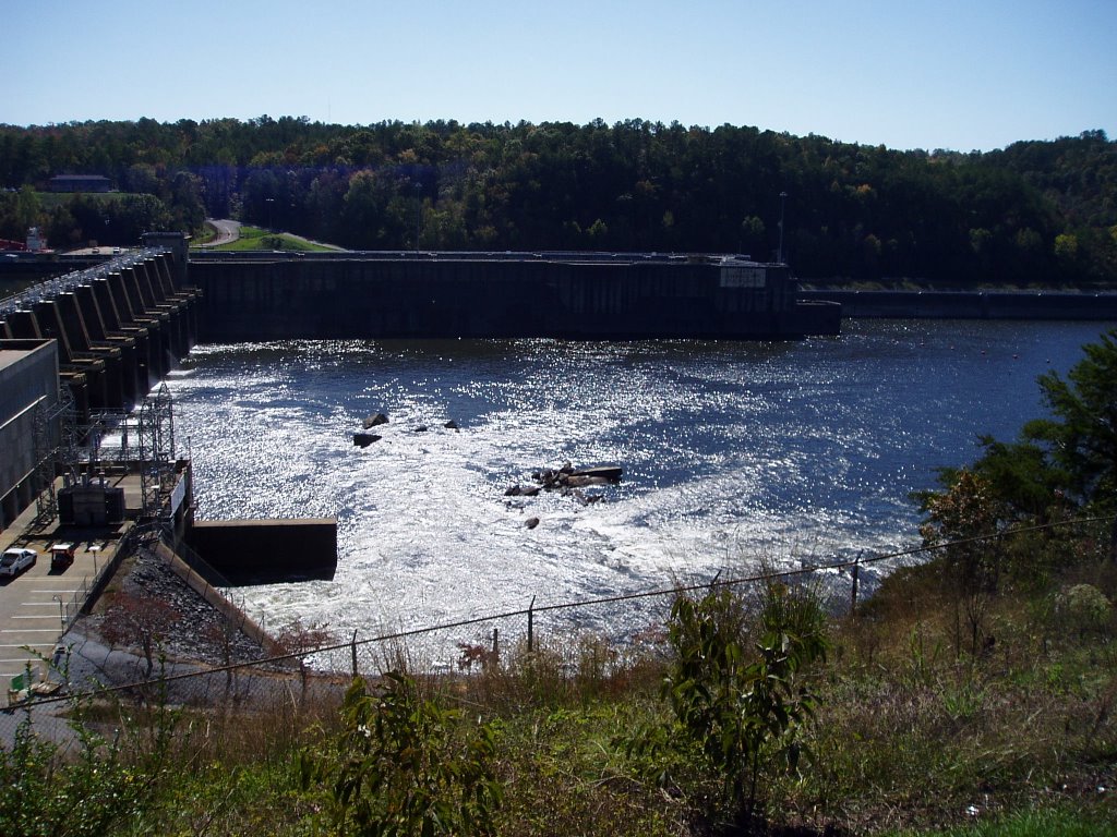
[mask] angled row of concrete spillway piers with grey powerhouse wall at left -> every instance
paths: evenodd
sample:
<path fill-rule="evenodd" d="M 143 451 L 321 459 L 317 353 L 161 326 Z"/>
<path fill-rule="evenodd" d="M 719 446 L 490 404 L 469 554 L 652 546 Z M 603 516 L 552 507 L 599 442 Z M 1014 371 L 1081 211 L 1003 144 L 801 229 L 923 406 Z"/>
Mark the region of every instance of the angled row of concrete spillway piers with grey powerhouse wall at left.
<path fill-rule="evenodd" d="M 184 237 L 145 244 L 0 300 L 0 531 L 195 344 Z"/>

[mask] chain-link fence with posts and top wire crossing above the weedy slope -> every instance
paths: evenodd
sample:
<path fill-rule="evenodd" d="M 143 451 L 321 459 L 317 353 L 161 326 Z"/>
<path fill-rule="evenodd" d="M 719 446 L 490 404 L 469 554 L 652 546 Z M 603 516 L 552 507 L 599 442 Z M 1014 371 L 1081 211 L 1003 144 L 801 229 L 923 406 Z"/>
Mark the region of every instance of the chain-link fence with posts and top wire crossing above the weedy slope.
<path fill-rule="evenodd" d="M 728 586 L 747 603 L 760 602 L 771 584 L 803 585 L 825 609 L 849 613 L 884 575 L 951 546 L 738 578 L 718 575 L 691 585 L 592 600 L 540 607 L 533 600 L 503 613 L 336 637 L 299 624 L 269 635 L 211 586 L 200 571 L 200 558 L 181 550 L 181 545 L 172 549 L 152 530 L 134 538 L 130 546 L 135 565 L 128 577 L 139 576 L 146 596 L 127 598 L 125 584 L 98 613 L 67 604 L 67 613 L 80 613 L 80 618 L 51 658 L 29 666 L 21 684 L 26 691 L 0 713 L 4 745 L 11 745 L 25 719 L 32 719 L 40 730 L 65 734 L 65 718 L 76 702 L 121 706 L 159 701 L 203 712 L 267 713 L 308 703 L 336 705 L 352 677 L 375 679 L 388 671 L 470 677 L 516 674 L 531 664 L 545 671 L 557 687 L 586 677 L 605 679 L 640 661 L 663 657 L 667 620 L 679 595 Z M 983 539 L 987 538 L 973 540 Z M 113 569 L 104 567 L 89 589 L 103 587 Z M 9 700 L 15 698 L 9 692 Z"/>

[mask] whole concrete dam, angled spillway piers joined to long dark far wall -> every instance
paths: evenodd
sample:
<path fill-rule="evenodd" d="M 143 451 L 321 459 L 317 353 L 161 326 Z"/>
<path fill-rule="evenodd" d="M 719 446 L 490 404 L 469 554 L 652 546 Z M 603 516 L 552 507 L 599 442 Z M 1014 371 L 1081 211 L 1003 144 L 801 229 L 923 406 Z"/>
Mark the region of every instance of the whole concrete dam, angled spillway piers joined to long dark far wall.
<path fill-rule="evenodd" d="M 162 405 L 153 388 L 198 341 L 771 339 L 840 325 L 839 305 L 799 299 L 785 264 L 739 256 L 190 254 L 182 233 L 143 244 L 0 300 L 0 529 L 57 477 L 88 479 L 99 437 Z"/>

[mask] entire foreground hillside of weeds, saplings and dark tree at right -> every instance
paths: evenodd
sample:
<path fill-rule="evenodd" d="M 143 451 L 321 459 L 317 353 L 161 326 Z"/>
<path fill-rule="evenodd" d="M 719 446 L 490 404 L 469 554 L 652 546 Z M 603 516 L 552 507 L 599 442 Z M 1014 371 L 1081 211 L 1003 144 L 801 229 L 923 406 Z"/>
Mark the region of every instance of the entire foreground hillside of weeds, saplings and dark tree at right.
<path fill-rule="evenodd" d="M 170 706 L 153 676 L 17 709 L 0 830 L 1113 835 L 1117 340 L 1041 387 L 1054 419 L 945 472 L 927 557 L 855 612 L 810 574 L 727 579 L 620 644 L 462 643 L 439 675 L 395 650 L 270 705 Z"/>

